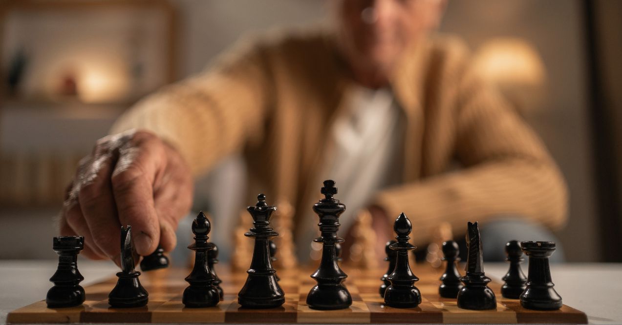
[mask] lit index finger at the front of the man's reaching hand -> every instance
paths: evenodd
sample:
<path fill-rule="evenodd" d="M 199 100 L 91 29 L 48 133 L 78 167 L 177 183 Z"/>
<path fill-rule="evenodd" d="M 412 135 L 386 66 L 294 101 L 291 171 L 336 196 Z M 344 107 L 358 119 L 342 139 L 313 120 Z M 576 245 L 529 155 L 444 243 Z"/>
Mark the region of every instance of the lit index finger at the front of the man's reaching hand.
<path fill-rule="evenodd" d="M 153 183 L 159 163 L 148 146 L 121 149 L 111 182 L 119 221 L 132 226 L 134 246 L 139 255 L 156 250 L 160 224 L 154 208 Z"/>

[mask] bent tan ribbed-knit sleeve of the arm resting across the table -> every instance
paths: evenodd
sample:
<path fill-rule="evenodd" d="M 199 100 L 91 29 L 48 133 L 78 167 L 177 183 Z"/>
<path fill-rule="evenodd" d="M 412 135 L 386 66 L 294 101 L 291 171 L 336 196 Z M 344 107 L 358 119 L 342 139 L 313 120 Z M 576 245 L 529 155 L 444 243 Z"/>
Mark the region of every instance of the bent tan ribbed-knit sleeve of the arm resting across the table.
<path fill-rule="evenodd" d="M 464 232 L 466 221 L 518 216 L 558 227 L 567 188 L 541 140 L 493 86 L 466 72 L 455 99 L 455 155 L 465 168 L 383 191 L 376 203 L 391 221 L 406 213 L 419 244 L 441 221 Z"/>

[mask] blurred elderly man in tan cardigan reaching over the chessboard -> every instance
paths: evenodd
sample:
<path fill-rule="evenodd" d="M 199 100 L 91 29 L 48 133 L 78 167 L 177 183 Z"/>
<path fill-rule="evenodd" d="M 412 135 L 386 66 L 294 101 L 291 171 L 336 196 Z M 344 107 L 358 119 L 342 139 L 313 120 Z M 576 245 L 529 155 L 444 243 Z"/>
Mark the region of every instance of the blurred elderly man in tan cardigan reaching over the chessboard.
<path fill-rule="evenodd" d="M 445 1 L 334 6 L 333 30 L 241 42 L 137 103 L 81 162 L 62 234 L 85 236 L 92 258 L 117 260 L 119 226 L 131 224 L 138 254 L 171 250 L 193 175 L 242 153 L 251 188 L 294 206 L 302 260 L 327 178 L 351 211 L 342 231 L 369 209 L 379 250 L 402 211 L 419 244 L 439 222 L 460 234 L 469 220 L 493 229 L 485 249 L 549 239 L 545 227 L 565 221 L 564 180 L 536 134 L 471 70 L 465 45 L 431 32 Z"/>

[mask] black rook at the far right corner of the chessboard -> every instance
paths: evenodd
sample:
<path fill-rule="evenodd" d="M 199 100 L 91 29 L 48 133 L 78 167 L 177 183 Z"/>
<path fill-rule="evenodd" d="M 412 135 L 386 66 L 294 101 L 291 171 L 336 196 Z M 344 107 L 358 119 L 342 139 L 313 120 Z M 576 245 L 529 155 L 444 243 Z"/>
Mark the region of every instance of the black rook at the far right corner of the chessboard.
<path fill-rule="evenodd" d="M 529 257 L 527 288 L 521 295 L 521 306 L 536 310 L 562 308 L 562 297 L 553 288 L 550 277 L 549 257 L 555 252 L 555 243 L 521 242 L 521 249 Z"/>

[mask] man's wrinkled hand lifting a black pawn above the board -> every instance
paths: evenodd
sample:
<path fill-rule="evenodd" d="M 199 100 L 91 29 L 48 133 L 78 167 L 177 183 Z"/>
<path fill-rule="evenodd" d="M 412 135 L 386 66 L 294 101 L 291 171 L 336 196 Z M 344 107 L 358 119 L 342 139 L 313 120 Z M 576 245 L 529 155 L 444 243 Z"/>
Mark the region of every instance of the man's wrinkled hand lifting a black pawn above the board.
<path fill-rule="evenodd" d="M 175 229 L 192 204 L 192 175 L 182 156 L 145 131 L 98 140 L 67 190 L 62 236 L 84 236 L 84 254 L 119 263 L 121 225 L 131 225 L 134 247 L 149 255 L 175 247 Z"/>

